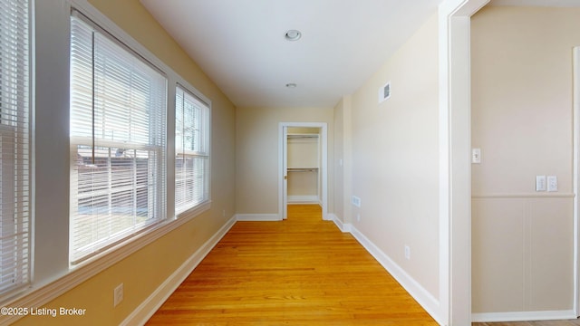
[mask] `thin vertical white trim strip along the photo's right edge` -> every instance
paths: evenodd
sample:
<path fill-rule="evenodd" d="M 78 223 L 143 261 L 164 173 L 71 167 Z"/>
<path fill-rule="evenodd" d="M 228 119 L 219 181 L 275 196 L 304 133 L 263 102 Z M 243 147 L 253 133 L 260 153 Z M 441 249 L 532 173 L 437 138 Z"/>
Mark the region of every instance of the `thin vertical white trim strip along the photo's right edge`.
<path fill-rule="evenodd" d="M 574 159 L 574 176 L 573 176 L 573 190 L 574 190 L 574 309 L 575 315 L 580 315 L 580 212 L 578 212 L 578 194 L 580 192 L 580 46 L 576 46 L 573 50 L 574 64 L 574 137 L 573 137 L 573 159 Z"/>

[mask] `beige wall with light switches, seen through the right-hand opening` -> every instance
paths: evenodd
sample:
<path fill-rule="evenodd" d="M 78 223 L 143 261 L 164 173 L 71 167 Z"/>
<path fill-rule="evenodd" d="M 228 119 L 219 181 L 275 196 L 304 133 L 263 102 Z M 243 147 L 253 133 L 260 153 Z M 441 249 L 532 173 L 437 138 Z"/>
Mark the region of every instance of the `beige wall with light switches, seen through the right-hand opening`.
<path fill-rule="evenodd" d="M 573 309 L 572 48 L 580 9 L 472 17 L 473 312 Z M 558 177 L 537 193 L 536 175 Z"/>

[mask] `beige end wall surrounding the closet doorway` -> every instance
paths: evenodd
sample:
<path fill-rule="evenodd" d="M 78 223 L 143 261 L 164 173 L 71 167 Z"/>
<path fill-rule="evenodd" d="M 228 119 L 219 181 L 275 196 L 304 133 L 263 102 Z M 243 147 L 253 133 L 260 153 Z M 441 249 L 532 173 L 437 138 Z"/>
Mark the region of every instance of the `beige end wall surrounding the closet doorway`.
<path fill-rule="evenodd" d="M 279 122 L 326 122 L 333 162 L 332 108 L 242 108 L 236 112 L 236 212 L 278 214 Z M 333 165 L 328 164 L 328 211 L 333 212 Z"/>

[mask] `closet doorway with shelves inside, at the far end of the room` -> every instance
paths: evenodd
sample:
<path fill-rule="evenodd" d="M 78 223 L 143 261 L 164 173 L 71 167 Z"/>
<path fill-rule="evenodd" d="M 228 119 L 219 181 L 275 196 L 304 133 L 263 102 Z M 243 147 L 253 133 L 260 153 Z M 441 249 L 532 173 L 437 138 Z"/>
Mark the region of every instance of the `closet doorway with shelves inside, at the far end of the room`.
<path fill-rule="evenodd" d="M 288 216 L 289 196 L 291 196 L 291 202 L 315 202 L 320 204 L 323 219 L 327 219 L 327 139 L 327 124 L 325 122 L 279 123 L 278 215 L 280 219 L 286 219 Z M 288 155 L 289 141 L 291 144 L 290 158 Z M 292 144 L 294 144 L 294 147 Z M 314 149 L 316 149 L 315 153 Z M 302 152 L 302 154 L 293 156 L 293 152 L 295 154 Z M 293 185 L 293 181 L 299 181 L 298 185 Z M 306 192 L 304 195 L 300 195 L 295 191 Z"/>

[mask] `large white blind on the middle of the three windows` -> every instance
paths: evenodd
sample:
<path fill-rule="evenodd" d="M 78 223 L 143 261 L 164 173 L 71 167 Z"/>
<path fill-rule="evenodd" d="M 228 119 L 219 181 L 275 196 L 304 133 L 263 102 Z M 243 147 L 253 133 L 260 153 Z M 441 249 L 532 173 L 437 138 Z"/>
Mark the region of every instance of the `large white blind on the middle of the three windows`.
<path fill-rule="evenodd" d="M 163 74 L 73 12 L 72 264 L 165 218 L 166 98 Z"/>

